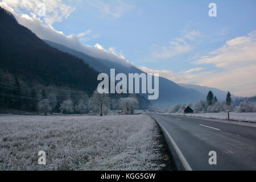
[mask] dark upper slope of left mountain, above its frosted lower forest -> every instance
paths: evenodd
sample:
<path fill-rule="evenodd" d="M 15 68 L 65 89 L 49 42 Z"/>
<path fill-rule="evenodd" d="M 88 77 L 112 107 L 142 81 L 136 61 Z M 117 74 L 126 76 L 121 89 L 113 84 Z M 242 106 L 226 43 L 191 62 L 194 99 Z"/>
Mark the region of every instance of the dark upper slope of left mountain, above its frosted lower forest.
<path fill-rule="evenodd" d="M 72 84 L 85 91 L 96 89 L 97 71 L 82 59 L 52 48 L 1 7 L 0 30 L 1 67 L 45 77 L 55 84 Z"/>

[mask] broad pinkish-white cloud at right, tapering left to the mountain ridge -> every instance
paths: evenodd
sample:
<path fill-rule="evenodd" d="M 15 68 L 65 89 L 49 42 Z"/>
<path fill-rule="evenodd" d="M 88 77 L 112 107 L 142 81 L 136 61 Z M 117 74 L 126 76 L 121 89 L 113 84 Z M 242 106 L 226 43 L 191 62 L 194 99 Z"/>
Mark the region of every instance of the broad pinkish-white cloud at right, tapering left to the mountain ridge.
<path fill-rule="evenodd" d="M 229 90 L 236 96 L 255 96 L 256 31 L 228 40 L 224 46 L 201 56 L 192 63 L 212 64 L 214 68 L 211 71 L 203 71 L 205 68 L 197 67 L 180 73 L 138 66 L 137 68 L 147 73 L 159 73 L 159 76 L 175 82 Z"/>

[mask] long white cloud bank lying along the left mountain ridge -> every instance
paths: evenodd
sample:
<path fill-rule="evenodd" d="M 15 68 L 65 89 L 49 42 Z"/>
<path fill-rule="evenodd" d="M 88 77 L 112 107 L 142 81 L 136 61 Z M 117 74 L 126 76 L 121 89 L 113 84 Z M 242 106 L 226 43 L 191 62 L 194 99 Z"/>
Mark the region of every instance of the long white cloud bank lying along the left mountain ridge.
<path fill-rule="evenodd" d="M 60 3 L 61 1 L 57 2 Z M 63 32 L 55 30 L 55 28 L 53 28 L 51 25 L 43 24 L 43 20 L 40 19 L 40 17 L 16 13 L 13 7 L 15 7 L 15 9 L 19 8 L 16 6 L 10 7 L 5 1 L 0 2 L 0 6 L 13 13 L 20 24 L 29 28 L 40 39 L 51 40 L 52 42 L 63 44 L 64 46 L 76 49 L 77 51 L 83 52 L 89 56 L 98 57 L 101 59 L 108 59 L 110 61 L 122 65 L 130 66 L 130 64 L 127 63 L 128 61 L 125 60 L 125 57 L 123 57 L 123 55 L 118 55 L 117 53 L 114 53 L 112 50 L 106 50 L 98 43 L 94 47 L 82 44 L 80 42 L 80 38 L 86 34 L 90 34 L 89 31 L 82 32 L 80 34 L 80 37 L 77 35 L 65 35 Z"/>

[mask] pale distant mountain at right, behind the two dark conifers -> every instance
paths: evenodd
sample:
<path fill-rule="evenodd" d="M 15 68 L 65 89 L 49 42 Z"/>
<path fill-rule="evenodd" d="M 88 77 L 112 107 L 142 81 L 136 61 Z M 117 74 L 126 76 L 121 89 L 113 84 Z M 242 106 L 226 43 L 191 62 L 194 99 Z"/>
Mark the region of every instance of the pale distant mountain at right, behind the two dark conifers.
<path fill-rule="evenodd" d="M 226 91 L 216 89 L 216 88 L 210 88 L 207 86 L 192 85 L 192 84 L 179 84 L 179 85 L 183 86 L 184 88 L 187 88 L 187 89 L 197 90 L 197 91 L 201 92 L 202 94 L 204 94 L 205 98 L 207 97 L 209 90 L 212 90 L 214 96 L 217 97 L 218 101 L 225 101 L 226 94 L 228 93 Z"/>

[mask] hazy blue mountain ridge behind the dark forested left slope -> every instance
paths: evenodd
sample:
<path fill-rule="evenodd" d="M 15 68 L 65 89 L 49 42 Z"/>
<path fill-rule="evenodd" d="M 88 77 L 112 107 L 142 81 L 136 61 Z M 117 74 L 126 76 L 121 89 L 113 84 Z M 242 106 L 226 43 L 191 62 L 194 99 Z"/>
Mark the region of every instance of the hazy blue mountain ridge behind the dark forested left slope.
<path fill-rule="evenodd" d="M 128 75 L 128 73 L 144 73 L 141 71 L 141 69 L 138 69 L 130 64 L 124 65 L 113 62 L 111 60 L 99 59 L 85 55 L 82 52 L 68 48 L 61 44 L 51 42 L 49 40 L 44 41 L 50 46 L 59 49 L 60 51 L 67 52 L 81 58 L 85 61 L 85 63 L 89 64 L 97 71 L 107 73 L 108 75 L 110 68 L 115 68 L 116 73 L 125 73 L 126 75 Z M 145 94 L 143 95 L 146 96 Z M 194 89 L 184 88 L 171 80 L 159 77 L 159 98 L 158 100 L 151 100 L 151 103 L 160 107 L 169 107 L 178 103 L 187 104 L 188 102 L 194 102 L 199 98 L 205 98 L 205 94 Z"/>

